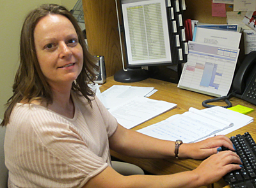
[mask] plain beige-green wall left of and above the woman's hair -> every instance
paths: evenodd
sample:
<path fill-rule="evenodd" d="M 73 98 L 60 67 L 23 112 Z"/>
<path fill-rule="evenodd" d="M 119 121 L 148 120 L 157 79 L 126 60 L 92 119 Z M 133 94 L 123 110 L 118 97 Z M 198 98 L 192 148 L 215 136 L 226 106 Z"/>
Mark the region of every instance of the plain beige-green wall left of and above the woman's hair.
<path fill-rule="evenodd" d="M 62 4 L 72 9 L 77 0 L 0 0 L 0 119 L 4 104 L 12 96 L 12 84 L 19 65 L 19 36 L 27 13 L 40 4 Z"/>

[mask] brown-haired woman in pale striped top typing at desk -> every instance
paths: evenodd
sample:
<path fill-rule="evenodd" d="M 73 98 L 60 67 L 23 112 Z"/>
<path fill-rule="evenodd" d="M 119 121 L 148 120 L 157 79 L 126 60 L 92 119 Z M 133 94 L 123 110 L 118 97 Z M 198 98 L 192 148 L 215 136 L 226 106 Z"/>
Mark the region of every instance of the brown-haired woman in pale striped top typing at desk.
<path fill-rule="evenodd" d="M 63 6 L 31 11 L 20 37 L 20 66 L 8 101 L 4 152 L 9 187 L 199 187 L 241 167 L 225 136 L 183 143 L 179 157 L 205 159 L 174 175 L 122 176 L 109 148 L 132 157 L 175 156 L 175 142 L 120 126 L 86 85 L 95 77 L 76 19 Z"/>

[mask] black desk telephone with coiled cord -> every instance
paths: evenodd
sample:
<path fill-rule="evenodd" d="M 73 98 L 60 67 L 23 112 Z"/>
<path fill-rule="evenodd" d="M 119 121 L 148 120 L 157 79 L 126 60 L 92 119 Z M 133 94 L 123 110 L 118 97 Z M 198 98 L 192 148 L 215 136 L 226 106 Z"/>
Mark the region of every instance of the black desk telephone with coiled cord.
<path fill-rule="evenodd" d="M 205 100 L 202 105 L 209 108 L 214 105 L 207 105 L 207 103 L 225 100 L 227 106 L 222 107 L 229 108 L 232 106 L 232 104 L 230 101 L 228 101 L 228 99 L 232 98 L 232 96 L 256 105 L 256 51 L 252 51 L 246 56 L 236 75 L 234 76 L 232 89 L 230 90 L 231 92 L 228 94 L 228 96 Z"/>

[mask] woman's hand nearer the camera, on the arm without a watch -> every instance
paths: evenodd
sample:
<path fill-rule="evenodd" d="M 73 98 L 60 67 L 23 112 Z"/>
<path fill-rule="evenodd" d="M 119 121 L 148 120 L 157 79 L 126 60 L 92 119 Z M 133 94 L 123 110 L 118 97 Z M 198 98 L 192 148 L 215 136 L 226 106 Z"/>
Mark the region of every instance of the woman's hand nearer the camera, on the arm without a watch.
<path fill-rule="evenodd" d="M 211 155 L 202 161 L 193 172 L 198 175 L 200 184 L 208 185 L 217 182 L 230 171 L 241 169 L 241 164 L 243 163 L 240 157 L 228 150 Z"/>

